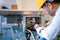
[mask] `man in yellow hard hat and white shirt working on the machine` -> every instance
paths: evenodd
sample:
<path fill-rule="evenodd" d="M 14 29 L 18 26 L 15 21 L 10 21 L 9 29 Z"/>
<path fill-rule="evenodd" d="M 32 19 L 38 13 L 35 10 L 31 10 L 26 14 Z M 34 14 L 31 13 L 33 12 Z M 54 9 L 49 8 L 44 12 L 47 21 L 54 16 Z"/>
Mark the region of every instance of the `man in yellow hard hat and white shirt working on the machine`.
<path fill-rule="evenodd" d="M 34 27 L 40 36 L 40 40 L 53 40 L 60 31 L 60 0 L 39 0 L 38 2 L 41 3 L 40 7 L 46 13 L 53 16 L 53 20 L 46 28 L 39 27 L 38 24 L 35 24 Z"/>

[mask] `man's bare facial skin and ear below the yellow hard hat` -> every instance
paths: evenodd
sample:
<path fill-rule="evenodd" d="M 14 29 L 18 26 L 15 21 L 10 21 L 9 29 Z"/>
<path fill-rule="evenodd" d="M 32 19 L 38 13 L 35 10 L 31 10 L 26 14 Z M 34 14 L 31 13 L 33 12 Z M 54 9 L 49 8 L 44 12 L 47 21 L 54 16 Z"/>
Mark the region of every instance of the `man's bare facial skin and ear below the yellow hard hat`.
<path fill-rule="evenodd" d="M 58 9 L 58 5 L 57 4 L 53 4 L 53 3 L 47 3 L 47 5 L 48 5 L 48 8 L 49 8 L 49 11 L 50 11 L 51 15 L 54 16 L 56 10 Z M 43 6 L 43 9 L 44 9 L 44 12 L 46 14 L 48 14 L 47 8 L 45 6 Z"/>

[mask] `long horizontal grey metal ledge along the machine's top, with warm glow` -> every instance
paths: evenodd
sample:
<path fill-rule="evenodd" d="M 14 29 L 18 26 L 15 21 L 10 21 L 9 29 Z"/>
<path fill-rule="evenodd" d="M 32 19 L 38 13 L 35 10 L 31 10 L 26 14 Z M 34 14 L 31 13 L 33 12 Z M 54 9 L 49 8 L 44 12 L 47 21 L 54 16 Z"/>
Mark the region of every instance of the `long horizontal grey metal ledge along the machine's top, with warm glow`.
<path fill-rule="evenodd" d="M 0 15 L 37 15 L 40 11 L 29 11 L 31 13 L 25 14 L 28 11 L 0 11 Z"/>

